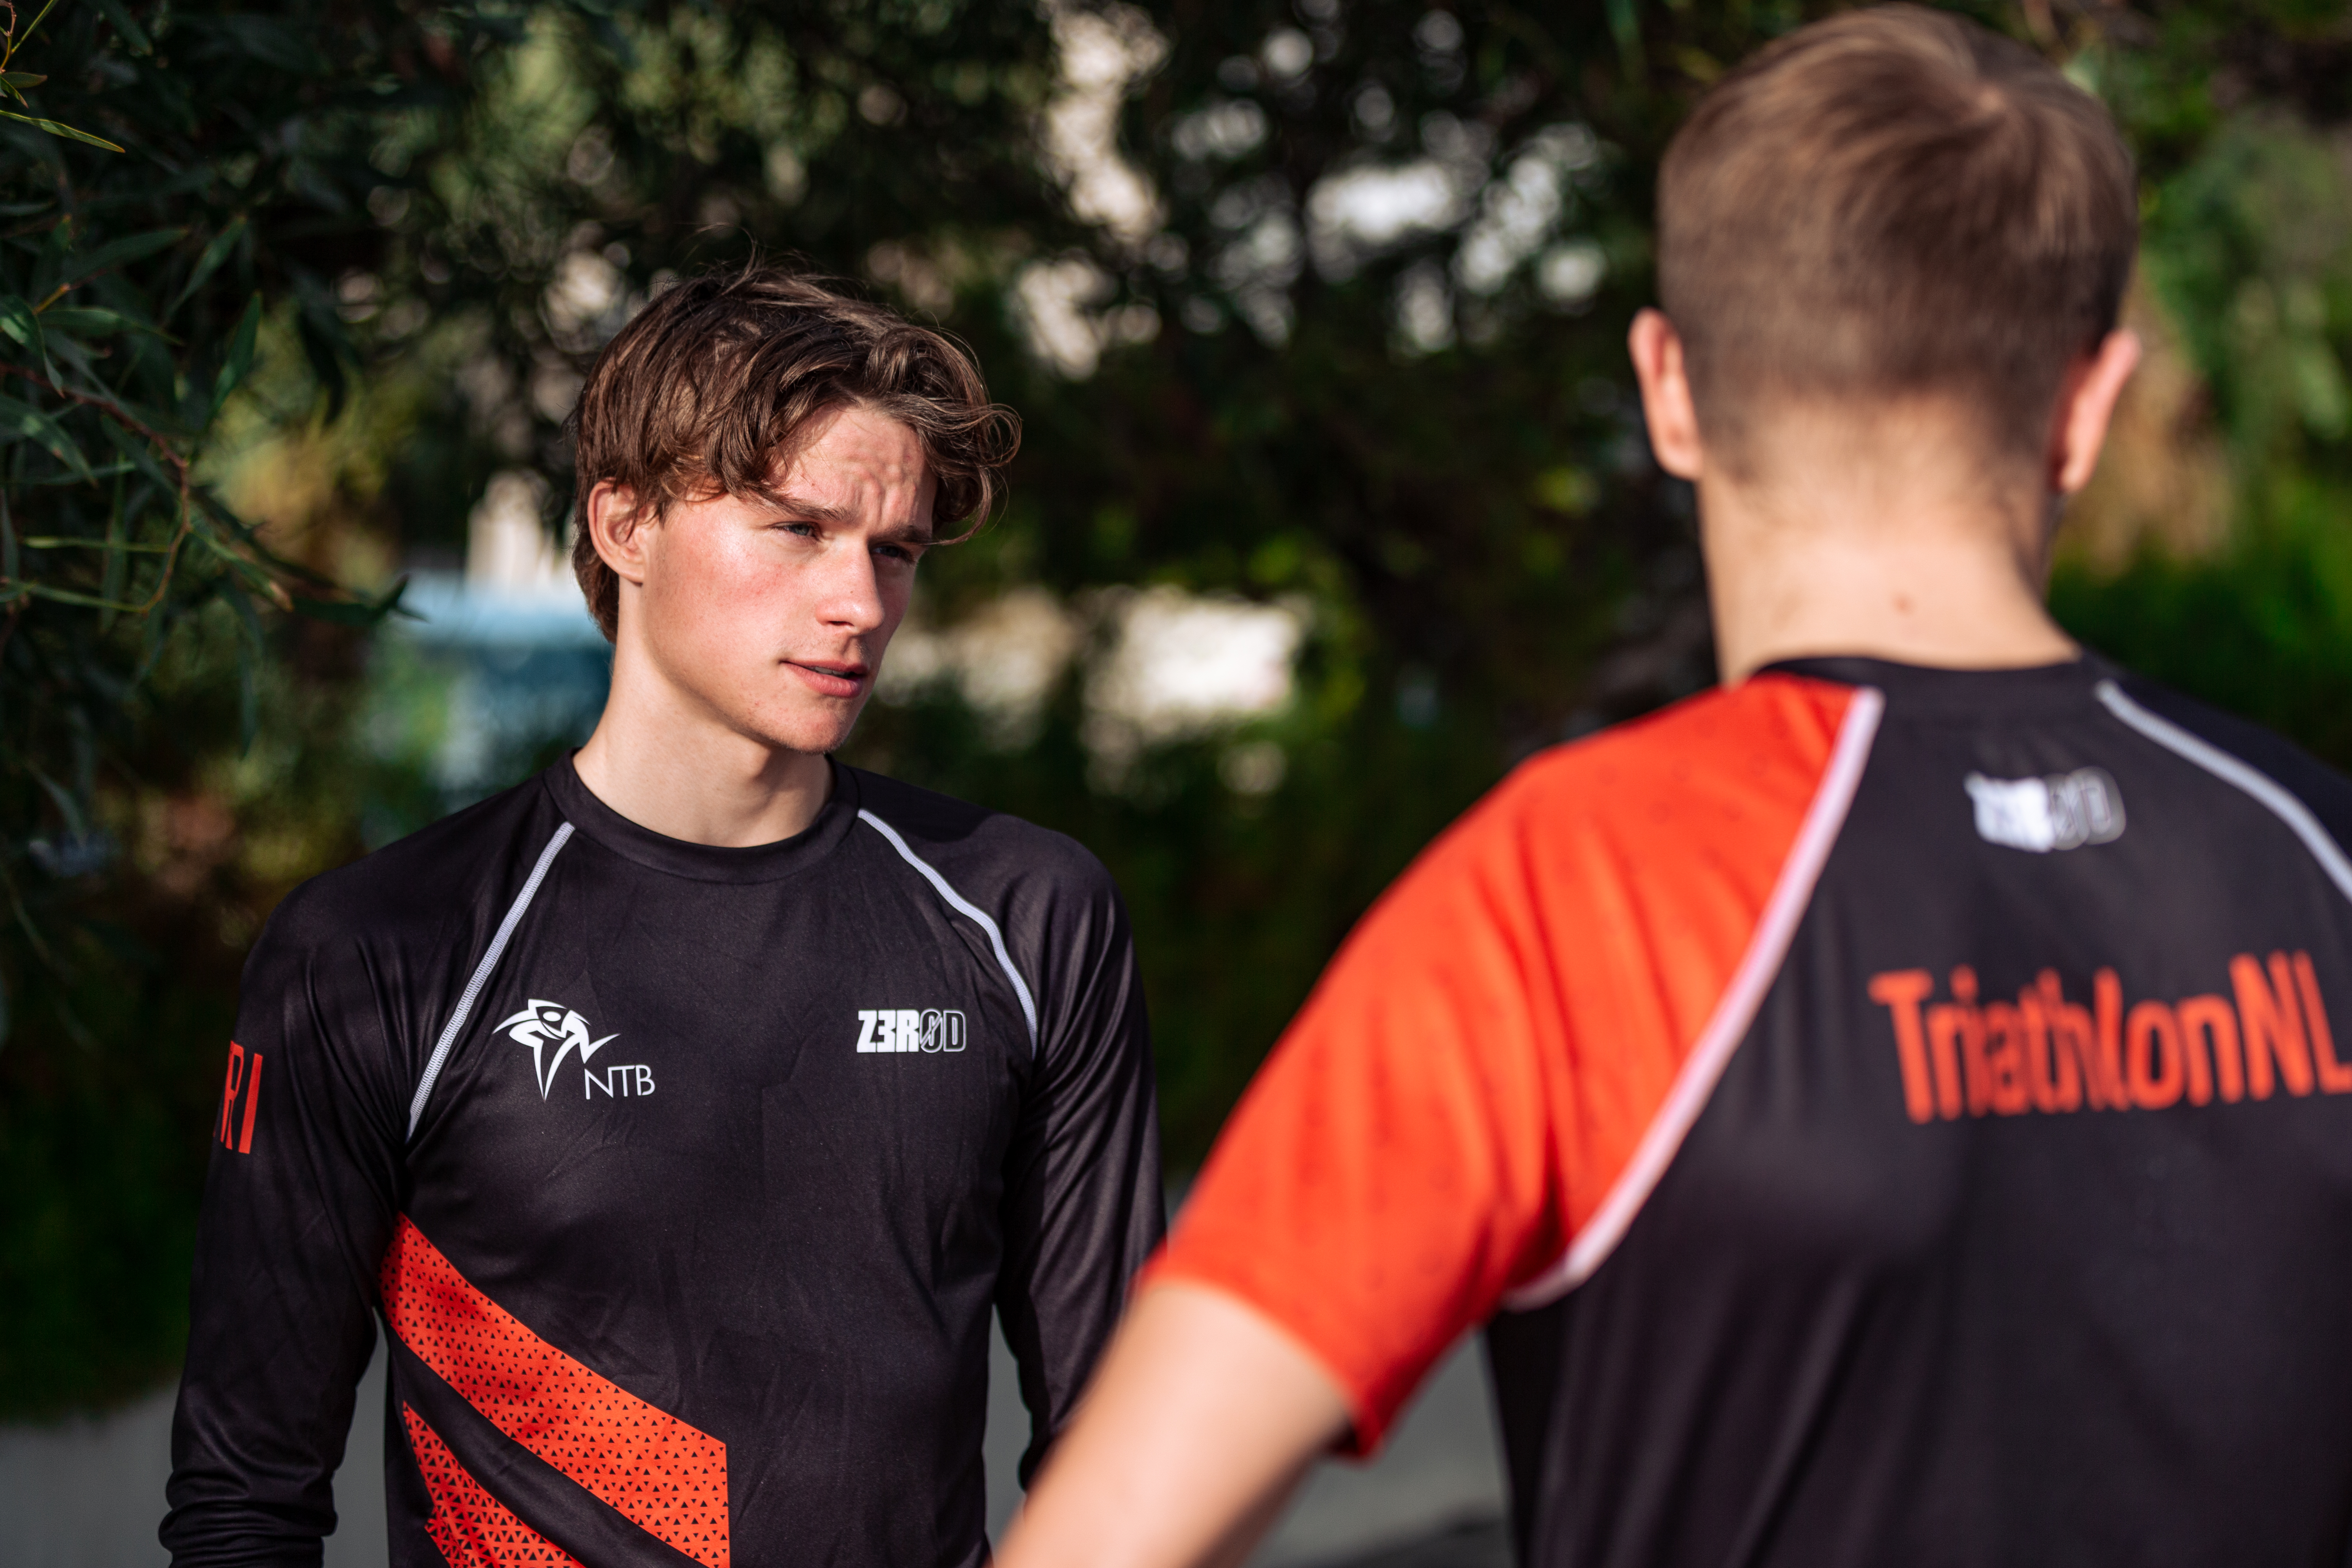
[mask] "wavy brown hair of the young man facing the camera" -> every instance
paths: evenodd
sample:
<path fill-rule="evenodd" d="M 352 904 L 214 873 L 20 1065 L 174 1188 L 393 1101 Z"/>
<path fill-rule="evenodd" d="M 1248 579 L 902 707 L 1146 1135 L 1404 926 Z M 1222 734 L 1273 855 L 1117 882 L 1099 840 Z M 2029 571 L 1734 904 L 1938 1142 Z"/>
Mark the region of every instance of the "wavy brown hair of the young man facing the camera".
<path fill-rule="evenodd" d="M 988 402 L 971 355 L 941 331 L 774 266 L 670 287 L 604 346 L 572 407 L 572 574 L 607 637 L 621 578 L 588 536 L 588 491 L 612 480 L 659 517 L 673 501 L 769 496 L 776 458 L 811 418 L 863 404 L 915 433 L 943 522 L 988 517 L 1021 418 Z"/>

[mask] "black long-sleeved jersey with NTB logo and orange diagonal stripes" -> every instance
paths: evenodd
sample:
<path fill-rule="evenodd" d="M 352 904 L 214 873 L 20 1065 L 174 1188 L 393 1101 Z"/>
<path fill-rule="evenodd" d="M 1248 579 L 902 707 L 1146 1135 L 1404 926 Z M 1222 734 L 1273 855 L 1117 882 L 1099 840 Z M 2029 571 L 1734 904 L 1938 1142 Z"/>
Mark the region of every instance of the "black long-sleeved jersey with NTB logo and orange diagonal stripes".
<path fill-rule="evenodd" d="M 1068 1418 L 1160 1239 L 1127 917 L 837 766 L 710 849 L 569 762 L 301 886 L 245 973 L 176 1563 L 318 1563 L 388 1326 L 395 1568 L 985 1559 L 988 1319 Z"/>

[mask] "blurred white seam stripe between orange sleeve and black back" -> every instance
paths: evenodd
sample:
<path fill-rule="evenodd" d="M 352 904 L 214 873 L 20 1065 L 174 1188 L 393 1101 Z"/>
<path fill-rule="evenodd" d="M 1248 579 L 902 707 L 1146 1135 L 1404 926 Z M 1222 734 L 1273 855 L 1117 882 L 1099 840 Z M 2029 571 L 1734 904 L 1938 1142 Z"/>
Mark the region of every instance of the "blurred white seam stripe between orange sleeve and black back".
<path fill-rule="evenodd" d="M 1635 1145 L 1632 1159 L 1625 1161 L 1625 1168 L 1609 1187 L 1609 1197 L 1592 1211 L 1585 1227 L 1576 1232 L 1569 1251 L 1541 1276 L 1517 1291 L 1508 1291 L 1503 1295 L 1505 1307 L 1524 1312 L 1526 1307 L 1541 1307 L 1566 1295 L 1592 1279 L 1595 1269 L 1616 1251 L 1616 1244 L 1625 1239 L 1625 1229 L 1642 1211 L 1642 1204 L 1649 1201 L 1658 1178 L 1665 1175 L 1665 1166 L 1682 1150 L 1684 1135 L 1698 1121 L 1698 1112 L 1705 1110 L 1715 1084 L 1724 1077 L 1724 1067 L 1731 1065 L 1731 1053 L 1745 1039 L 1748 1025 L 1755 1023 L 1757 1009 L 1764 1006 L 1764 994 L 1780 973 L 1788 945 L 1797 936 L 1797 922 L 1804 919 L 1806 905 L 1813 903 L 1813 884 L 1820 882 L 1820 867 L 1830 858 L 1830 846 L 1837 844 L 1837 835 L 1846 825 L 1846 809 L 1853 806 L 1853 790 L 1863 780 L 1863 766 L 1870 762 L 1870 743 L 1877 738 L 1884 710 L 1886 698 L 1875 686 L 1856 686 L 1853 705 L 1839 726 L 1837 748 L 1830 752 L 1820 790 L 1813 795 L 1813 804 L 1804 813 L 1804 825 L 1797 830 L 1797 842 L 1790 846 L 1788 863 L 1780 867 L 1780 882 L 1773 884 L 1771 898 L 1764 903 L 1764 917 L 1757 922 L 1755 936 L 1748 938 L 1740 966 L 1731 971 L 1731 985 L 1724 987 L 1722 999 L 1715 1004 L 1715 1013 L 1708 1018 L 1708 1027 L 1700 1030 L 1698 1044 L 1682 1060 L 1675 1086 L 1665 1093 L 1658 1114 L 1651 1117 L 1642 1143 Z"/>

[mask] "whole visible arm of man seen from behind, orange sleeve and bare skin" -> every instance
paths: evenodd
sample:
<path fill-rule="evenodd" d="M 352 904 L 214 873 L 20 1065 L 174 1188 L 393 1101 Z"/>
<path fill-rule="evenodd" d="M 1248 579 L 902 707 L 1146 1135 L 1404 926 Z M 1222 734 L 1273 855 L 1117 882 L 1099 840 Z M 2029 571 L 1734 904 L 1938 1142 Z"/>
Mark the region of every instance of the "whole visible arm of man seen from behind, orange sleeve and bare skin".
<path fill-rule="evenodd" d="M 1007 1568 L 1237 1563 L 1317 1453 L 1557 1253 L 1545 1053 L 1494 884 L 1442 856 L 1348 940 L 1218 1138 Z"/>

